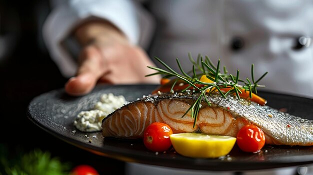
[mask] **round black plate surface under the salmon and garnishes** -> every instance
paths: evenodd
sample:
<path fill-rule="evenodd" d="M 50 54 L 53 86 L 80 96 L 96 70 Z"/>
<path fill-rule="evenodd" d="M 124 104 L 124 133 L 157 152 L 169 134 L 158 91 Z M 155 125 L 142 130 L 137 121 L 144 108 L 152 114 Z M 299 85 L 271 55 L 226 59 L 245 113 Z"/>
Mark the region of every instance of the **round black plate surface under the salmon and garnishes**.
<path fill-rule="evenodd" d="M 63 89 L 54 90 L 30 102 L 28 117 L 37 126 L 67 143 L 125 162 L 211 171 L 257 170 L 313 163 L 313 147 L 265 146 L 257 154 L 248 154 L 235 146 L 228 156 L 220 159 L 186 158 L 173 150 L 156 155 L 148 151 L 142 141 L 104 139 L 100 132 L 83 133 L 73 126 L 75 116 L 80 111 L 91 109 L 102 93 L 123 95 L 126 100 L 132 101 L 142 95 L 148 95 L 155 87 L 155 85 L 102 85 L 82 97 L 70 97 Z M 293 115 L 313 119 L 313 99 L 269 92 L 259 94 L 267 99 L 268 105 L 273 108 L 284 108 Z M 89 139 L 92 140 L 91 143 L 88 143 Z"/>

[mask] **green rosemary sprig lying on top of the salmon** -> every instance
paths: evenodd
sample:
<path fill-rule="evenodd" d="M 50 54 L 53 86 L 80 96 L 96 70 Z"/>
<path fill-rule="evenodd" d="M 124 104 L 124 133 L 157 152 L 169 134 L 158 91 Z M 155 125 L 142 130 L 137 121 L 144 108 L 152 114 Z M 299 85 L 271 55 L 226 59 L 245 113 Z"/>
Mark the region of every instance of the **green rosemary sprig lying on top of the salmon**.
<path fill-rule="evenodd" d="M 228 71 L 226 67 L 224 66 L 223 73 L 221 73 L 219 70 L 220 60 L 218 60 L 215 66 L 208 56 L 205 56 L 203 59 L 203 56 L 198 54 L 197 60 L 195 61 L 192 58 L 191 53 L 189 52 L 188 58 L 192 64 L 192 69 L 191 71 L 187 73 L 182 69 L 178 58 L 176 58 L 176 62 L 177 62 L 177 65 L 181 74 L 179 74 L 178 72 L 170 68 L 166 63 L 164 63 L 159 58 L 157 57 L 154 57 L 154 58 L 158 62 L 160 62 L 167 70 L 160 69 L 160 68 L 153 67 L 153 66 L 148 66 L 148 68 L 156 70 L 157 72 L 146 75 L 146 76 L 160 74 L 166 78 L 174 77 L 175 81 L 170 91 L 173 90 L 173 87 L 176 84 L 177 80 L 180 79 L 189 85 L 187 88 L 181 90 L 180 92 L 184 92 L 185 90 L 192 87 L 194 90 L 194 93 L 197 93 L 197 92 L 200 93 L 197 100 L 189 107 L 189 109 L 182 116 L 184 117 L 190 111 L 191 118 L 194 118 L 193 127 L 195 126 L 202 100 L 204 99 L 204 101 L 208 105 L 210 105 L 206 96 L 213 93 L 214 90 L 217 90 L 223 98 L 226 98 L 226 95 L 229 93 L 234 93 L 236 94 L 236 97 L 240 99 L 239 94 L 242 93 L 241 90 L 248 91 L 250 98 L 252 98 L 252 92 L 257 94 L 257 91 L 256 91 L 257 87 L 265 87 L 257 83 L 267 74 L 267 72 L 265 72 L 262 76 L 260 76 L 260 78 L 258 78 L 255 81 L 253 64 L 251 65 L 251 80 L 252 81 L 250 81 L 248 78 L 246 78 L 244 81 L 242 79 L 239 79 L 239 70 L 237 70 L 236 76 L 233 76 L 231 74 L 228 74 Z M 208 78 L 212 82 L 207 83 L 207 82 L 200 81 L 199 78 L 202 75 L 205 75 L 206 78 Z M 239 84 L 239 82 L 242 83 L 243 85 Z M 223 89 L 225 88 L 229 88 L 229 89 L 226 92 L 223 92 Z"/>

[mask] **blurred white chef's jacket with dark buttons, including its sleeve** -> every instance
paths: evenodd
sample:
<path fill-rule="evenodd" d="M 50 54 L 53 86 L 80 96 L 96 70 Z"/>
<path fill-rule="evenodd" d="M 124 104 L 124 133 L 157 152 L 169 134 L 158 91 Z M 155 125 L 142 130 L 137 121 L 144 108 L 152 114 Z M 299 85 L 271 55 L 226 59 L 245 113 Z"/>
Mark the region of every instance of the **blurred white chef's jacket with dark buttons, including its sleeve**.
<path fill-rule="evenodd" d="M 215 63 L 220 59 L 233 75 L 239 69 L 242 79 L 251 79 L 254 63 L 256 79 L 268 71 L 260 82 L 264 90 L 313 97 L 313 1 L 151 0 L 153 15 L 139 1 L 59 0 L 43 36 L 63 75 L 73 76 L 77 64 L 61 41 L 79 23 L 96 17 L 110 21 L 143 48 L 154 35 L 149 55 L 175 69 L 178 57 L 190 70 L 187 52 L 208 55 Z M 234 46 L 238 40 L 241 45 Z M 305 46 L 296 47 L 299 41 Z"/>

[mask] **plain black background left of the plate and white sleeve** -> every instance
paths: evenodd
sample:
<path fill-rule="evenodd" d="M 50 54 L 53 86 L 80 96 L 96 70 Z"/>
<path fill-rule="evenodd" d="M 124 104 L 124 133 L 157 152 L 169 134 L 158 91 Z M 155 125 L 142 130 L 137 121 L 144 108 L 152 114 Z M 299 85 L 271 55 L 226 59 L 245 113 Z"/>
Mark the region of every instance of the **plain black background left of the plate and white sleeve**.
<path fill-rule="evenodd" d="M 123 174 L 124 163 L 93 155 L 44 132 L 26 117 L 32 98 L 62 88 L 66 79 L 49 57 L 41 27 L 48 0 L 0 0 L 0 144 L 25 152 L 39 148 L 73 166 L 87 164 L 100 174 Z M 14 155 L 14 154 L 13 154 Z"/>

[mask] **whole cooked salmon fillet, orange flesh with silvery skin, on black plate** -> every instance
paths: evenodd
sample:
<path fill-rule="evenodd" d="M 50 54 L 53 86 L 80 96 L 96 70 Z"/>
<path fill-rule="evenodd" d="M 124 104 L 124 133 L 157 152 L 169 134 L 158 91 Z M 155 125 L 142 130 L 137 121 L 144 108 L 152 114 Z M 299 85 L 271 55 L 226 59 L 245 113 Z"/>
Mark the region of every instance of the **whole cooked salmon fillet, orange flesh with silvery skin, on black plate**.
<path fill-rule="evenodd" d="M 313 145 L 313 121 L 280 112 L 269 106 L 261 106 L 233 95 L 222 98 L 219 94 L 207 96 L 208 105 L 201 102 L 198 117 L 194 118 L 189 109 L 197 94 L 162 94 L 133 101 L 117 109 L 102 120 L 102 135 L 138 139 L 144 129 L 153 122 L 166 123 L 173 133 L 201 132 L 210 135 L 236 137 L 238 130 L 253 124 L 263 130 L 266 144 L 272 145 Z"/>

